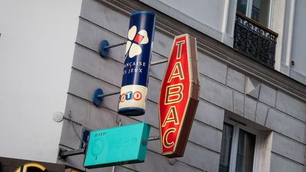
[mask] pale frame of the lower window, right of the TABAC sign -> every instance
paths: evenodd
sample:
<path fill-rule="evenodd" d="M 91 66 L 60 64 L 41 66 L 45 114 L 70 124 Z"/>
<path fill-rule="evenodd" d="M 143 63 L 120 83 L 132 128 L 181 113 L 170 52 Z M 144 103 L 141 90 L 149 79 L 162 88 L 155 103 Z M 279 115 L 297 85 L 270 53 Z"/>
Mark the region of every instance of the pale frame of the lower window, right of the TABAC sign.
<path fill-rule="evenodd" d="M 232 147 L 229 161 L 229 172 L 234 172 L 236 170 L 237 163 L 237 150 L 238 150 L 238 141 L 239 141 L 239 130 L 242 129 L 246 132 L 254 134 L 256 136 L 255 140 L 255 149 L 254 149 L 254 160 L 253 160 L 253 170 L 257 171 L 257 162 L 258 162 L 258 154 L 259 154 L 259 142 L 260 142 L 260 132 L 256 130 L 252 130 L 245 125 L 242 125 L 239 122 L 234 122 L 232 120 L 225 120 L 224 123 L 233 126 L 233 136 L 232 136 Z"/>

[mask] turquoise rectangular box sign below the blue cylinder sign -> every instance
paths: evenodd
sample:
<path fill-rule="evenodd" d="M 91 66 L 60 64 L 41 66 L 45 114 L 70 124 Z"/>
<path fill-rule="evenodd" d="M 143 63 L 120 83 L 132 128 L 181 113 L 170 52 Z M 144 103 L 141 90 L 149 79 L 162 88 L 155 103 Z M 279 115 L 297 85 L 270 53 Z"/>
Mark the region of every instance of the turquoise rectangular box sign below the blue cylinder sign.
<path fill-rule="evenodd" d="M 150 126 L 146 123 L 91 131 L 84 167 L 99 168 L 145 161 Z"/>

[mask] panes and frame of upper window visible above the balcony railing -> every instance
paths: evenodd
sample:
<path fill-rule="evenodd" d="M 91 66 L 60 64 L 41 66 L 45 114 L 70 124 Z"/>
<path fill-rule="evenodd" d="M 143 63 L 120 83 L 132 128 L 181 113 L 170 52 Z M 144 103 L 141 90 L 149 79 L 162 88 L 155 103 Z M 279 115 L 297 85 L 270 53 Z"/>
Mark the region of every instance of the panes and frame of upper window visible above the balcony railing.
<path fill-rule="evenodd" d="M 270 0 L 238 0 L 237 11 L 268 28 Z"/>

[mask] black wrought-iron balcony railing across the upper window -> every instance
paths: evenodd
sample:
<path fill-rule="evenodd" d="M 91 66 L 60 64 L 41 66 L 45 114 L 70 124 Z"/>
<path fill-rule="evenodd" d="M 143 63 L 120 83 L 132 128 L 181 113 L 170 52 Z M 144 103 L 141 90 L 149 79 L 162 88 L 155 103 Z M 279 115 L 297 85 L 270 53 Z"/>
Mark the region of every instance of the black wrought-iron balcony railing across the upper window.
<path fill-rule="evenodd" d="M 236 13 L 234 26 L 234 49 L 274 68 L 276 38 L 278 34 L 242 13 Z"/>

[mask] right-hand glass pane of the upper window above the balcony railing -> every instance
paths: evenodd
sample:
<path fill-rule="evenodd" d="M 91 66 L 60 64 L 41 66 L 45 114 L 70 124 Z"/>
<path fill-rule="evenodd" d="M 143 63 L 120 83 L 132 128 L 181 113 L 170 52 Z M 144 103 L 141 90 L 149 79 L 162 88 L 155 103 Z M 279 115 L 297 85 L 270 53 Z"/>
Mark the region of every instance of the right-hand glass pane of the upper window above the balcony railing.
<path fill-rule="evenodd" d="M 253 0 L 251 19 L 268 27 L 270 0 Z"/>

